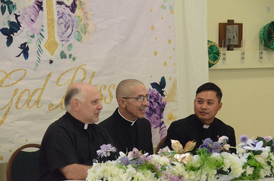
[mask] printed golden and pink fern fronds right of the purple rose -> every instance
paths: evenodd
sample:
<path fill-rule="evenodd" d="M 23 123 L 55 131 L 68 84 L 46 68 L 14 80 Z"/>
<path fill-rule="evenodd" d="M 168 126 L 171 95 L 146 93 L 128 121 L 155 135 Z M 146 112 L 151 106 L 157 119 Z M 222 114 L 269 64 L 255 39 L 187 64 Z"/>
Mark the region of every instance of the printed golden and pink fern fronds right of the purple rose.
<path fill-rule="evenodd" d="M 77 41 L 81 41 L 81 43 L 86 40 L 86 42 L 90 41 L 93 37 L 94 33 L 96 33 L 96 25 L 93 23 L 93 19 L 91 16 L 91 7 L 89 5 L 88 0 L 77 0 L 77 9 L 75 12 L 75 19 L 76 19 L 76 31 L 75 38 Z"/>

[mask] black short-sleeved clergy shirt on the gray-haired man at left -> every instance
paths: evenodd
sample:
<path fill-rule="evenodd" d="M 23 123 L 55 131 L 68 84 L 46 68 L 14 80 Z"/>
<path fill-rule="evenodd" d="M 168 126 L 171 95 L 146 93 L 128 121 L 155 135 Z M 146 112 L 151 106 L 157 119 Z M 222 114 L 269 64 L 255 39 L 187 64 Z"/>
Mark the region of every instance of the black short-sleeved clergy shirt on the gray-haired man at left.
<path fill-rule="evenodd" d="M 38 181 L 66 180 L 59 168 L 72 163 L 90 165 L 97 159 L 97 150 L 103 144 L 116 147 L 107 131 L 97 124 L 85 124 L 74 118 L 68 112 L 52 123 L 43 137 L 38 155 Z M 115 160 L 119 151 L 108 157 Z M 100 158 L 106 161 L 106 158 Z"/>

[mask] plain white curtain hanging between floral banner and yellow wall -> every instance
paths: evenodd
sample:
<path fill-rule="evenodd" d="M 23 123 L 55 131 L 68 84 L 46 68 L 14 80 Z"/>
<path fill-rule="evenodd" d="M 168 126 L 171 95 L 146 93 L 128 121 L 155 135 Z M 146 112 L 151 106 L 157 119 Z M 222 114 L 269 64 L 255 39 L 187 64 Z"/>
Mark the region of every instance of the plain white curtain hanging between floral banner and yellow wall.
<path fill-rule="evenodd" d="M 175 1 L 180 118 L 194 113 L 197 88 L 209 81 L 206 0 Z"/>

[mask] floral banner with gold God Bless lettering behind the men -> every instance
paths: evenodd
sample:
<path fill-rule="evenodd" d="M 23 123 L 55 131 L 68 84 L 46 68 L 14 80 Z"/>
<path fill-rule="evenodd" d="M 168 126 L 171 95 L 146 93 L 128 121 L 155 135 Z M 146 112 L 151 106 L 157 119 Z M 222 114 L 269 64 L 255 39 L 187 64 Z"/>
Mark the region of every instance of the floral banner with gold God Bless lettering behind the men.
<path fill-rule="evenodd" d="M 0 163 L 40 144 L 73 82 L 97 87 L 100 121 L 121 80 L 142 81 L 153 145 L 178 118 L 174 0 L 1 0 Z"/>

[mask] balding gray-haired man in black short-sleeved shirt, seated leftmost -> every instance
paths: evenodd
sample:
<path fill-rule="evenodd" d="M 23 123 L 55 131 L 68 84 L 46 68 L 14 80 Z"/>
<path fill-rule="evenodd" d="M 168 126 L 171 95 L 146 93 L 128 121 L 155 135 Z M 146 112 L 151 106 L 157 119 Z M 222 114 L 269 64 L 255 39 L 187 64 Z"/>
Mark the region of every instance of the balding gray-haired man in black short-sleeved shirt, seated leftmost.
<path fill-rule="evenodd" d="M 87 170 L 103 144 L 116 147 L 107 131 L 94 124 L 103 106 L 98 90 L 75 83 L 65 95 L 66 113 L 53 122 L 42 139 L 37 181 L 86 180 Z M 107 157 L 115 160 L 119 151 Z"/>

